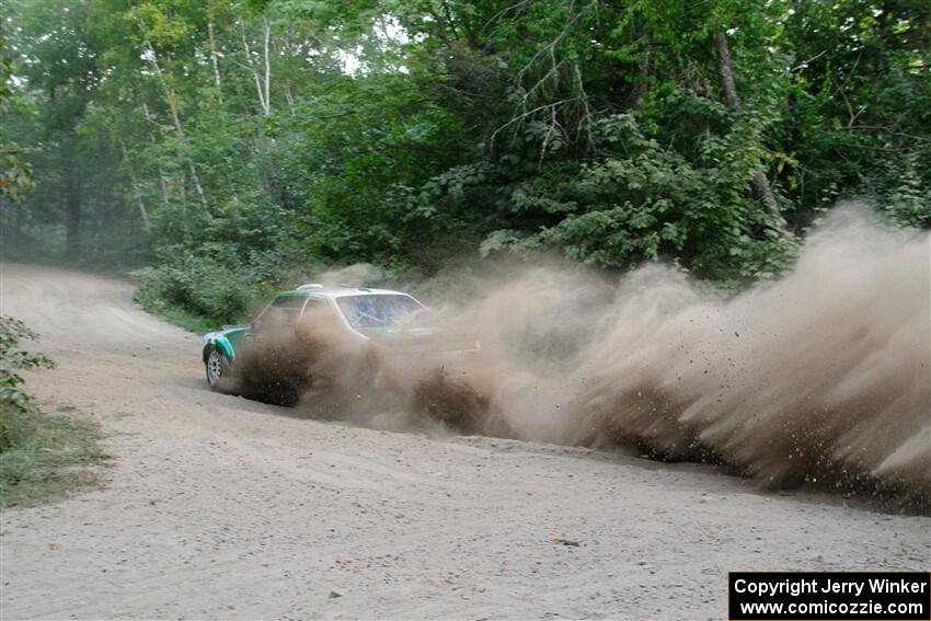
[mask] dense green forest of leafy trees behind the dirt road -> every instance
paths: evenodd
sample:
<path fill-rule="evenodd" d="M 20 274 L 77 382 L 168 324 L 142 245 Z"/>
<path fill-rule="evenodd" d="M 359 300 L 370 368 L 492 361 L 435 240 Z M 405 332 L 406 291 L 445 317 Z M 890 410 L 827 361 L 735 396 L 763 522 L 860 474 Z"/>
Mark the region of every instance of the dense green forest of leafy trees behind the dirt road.
<path fill-rule="evenodd" d="M 773 278 L 931 227 L 927 0 L 5 0 L 4 260 L 231 321 L 329 266 Z"/>

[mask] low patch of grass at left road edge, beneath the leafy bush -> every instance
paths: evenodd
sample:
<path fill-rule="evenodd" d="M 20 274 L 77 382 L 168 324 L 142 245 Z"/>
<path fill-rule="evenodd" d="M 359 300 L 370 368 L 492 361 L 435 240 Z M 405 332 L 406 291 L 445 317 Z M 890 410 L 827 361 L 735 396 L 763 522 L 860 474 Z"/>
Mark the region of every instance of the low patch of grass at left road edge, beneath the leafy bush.
<path fill-rule="evenodd" d="M 0 506 L 32 505 L 93 486 L 108 456 L 90 422 L 0 401 Z"/>

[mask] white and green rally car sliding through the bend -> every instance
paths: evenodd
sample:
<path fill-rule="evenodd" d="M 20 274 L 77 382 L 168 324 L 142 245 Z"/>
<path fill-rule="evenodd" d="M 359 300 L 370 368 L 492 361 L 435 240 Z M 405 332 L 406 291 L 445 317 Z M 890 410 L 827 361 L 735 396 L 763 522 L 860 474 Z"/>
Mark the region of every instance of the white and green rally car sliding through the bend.
<path fill-rule="evenodd" d="M 225 325 L 204 335 L 207 384 L 223 390 L 240 370 L 238 363 L 263 342 L 313 347 L 299 338 L 302 321 L 311 315 L 323 330 L 341 331 L 361 347 L 371 345 L 390 356 L 458 356 L 481 348 L 473 337 L 450 334 L 433 311 L 403 291 L 307 284 L 276 295 L 252 323 Z M 265 365 L 263 372 L 267 370 Z"/>

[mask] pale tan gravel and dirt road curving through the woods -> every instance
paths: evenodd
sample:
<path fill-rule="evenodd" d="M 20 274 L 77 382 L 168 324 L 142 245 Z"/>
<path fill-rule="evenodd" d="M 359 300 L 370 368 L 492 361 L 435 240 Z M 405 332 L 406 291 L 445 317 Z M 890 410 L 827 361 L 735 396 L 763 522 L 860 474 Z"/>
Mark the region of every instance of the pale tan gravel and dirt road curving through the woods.
<path fill-rule="evenodd" d="M 214 394 L 198 336 L 138 310 L 127 284 L 0 276 L 2 313 L 58 363 L 28 388 L 99 421 L 115 457 L 101 490 L 3 511 L 3 619 L 721 619 L 727 571 L 931 564 L 927 517 Z"/>

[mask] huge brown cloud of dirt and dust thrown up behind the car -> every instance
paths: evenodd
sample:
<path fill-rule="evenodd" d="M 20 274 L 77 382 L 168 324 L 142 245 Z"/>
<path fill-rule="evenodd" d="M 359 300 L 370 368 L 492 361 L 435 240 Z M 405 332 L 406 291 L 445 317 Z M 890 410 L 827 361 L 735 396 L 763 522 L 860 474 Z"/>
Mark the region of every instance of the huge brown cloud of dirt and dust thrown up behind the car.
<path fill-rule="evenodd" d="M 762 486 L 814 482 L 927 509 L 930 273 L 927 232 L 844 208 L 807 239 L 791 274 L 733 298 L 658 265 L 614 284 L 582 268 L 525 268 L 473 286 L 483 294 L 444 313 L 452 333 L 481 340 L 478 357 L 395 368 L 311 326 L 329 354 L 309 375 L 348 395 L 342 412 L 355 422 L 433 418 L 468 433 L 632 446 L 724 462 Z M 378 390 L 363 396 L 359 380 Z"/>

